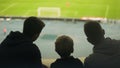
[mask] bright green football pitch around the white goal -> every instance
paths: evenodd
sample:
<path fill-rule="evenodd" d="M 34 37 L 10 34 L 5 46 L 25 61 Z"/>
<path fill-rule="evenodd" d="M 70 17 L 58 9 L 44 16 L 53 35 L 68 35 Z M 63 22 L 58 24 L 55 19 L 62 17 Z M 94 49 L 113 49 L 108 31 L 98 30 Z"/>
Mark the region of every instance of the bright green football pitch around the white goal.
<path fill-rule="evenodd" d="M 119 19 L 119 6 L 120 0 L 0 0 L 0 16 L 37 16 L 39 7 L 59 7 L 60 17 Z"/>

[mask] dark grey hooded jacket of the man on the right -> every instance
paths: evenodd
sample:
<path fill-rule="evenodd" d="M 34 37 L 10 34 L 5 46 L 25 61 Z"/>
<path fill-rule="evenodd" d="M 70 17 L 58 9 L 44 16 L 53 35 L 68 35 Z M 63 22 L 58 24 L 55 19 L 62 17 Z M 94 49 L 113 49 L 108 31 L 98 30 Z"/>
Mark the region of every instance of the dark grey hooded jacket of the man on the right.
<path fill-rule="evenodd" d="M 120 40 L 104 39 L 86 57 L 85 68 L 120 68 Z"/>

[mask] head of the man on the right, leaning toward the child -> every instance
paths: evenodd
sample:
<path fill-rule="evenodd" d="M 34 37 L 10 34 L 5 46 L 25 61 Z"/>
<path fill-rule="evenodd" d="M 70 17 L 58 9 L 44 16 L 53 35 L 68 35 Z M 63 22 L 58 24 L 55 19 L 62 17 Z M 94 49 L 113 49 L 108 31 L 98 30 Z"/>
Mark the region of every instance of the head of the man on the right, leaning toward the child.
<path fill-rule="evenodd" d="M 84 25 L 87 40 L 92 44 L 98 44 L 104 39 L 104 30 L 97 21 L 89 21 Z"/>

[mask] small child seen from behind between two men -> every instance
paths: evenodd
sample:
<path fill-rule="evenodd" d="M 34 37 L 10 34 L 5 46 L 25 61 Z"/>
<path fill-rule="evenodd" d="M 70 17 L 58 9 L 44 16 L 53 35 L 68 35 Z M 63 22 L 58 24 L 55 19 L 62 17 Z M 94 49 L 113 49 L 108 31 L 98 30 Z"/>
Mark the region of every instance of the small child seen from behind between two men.
<path fill-rule="evenodd" d="M 55 42 L 55 51 L 60 55 L 60 59 L 57 59 L 51 64 L 51 68 L 83 68 L 82 62 L 71 56 L 73 53 L 73 40 L 69 36 L 60 36 Z"/>

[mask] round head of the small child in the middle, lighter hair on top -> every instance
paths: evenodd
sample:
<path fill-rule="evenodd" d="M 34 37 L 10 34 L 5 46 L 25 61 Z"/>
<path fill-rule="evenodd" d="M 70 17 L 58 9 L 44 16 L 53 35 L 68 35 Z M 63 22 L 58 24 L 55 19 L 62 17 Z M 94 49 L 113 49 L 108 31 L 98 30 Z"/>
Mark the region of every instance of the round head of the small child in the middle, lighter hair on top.
<path fill-rule="evenodd" d="M 68 57 L 73 53 L 73 40 L 69 36 L 62 35 L 56 39 L 55 42 L 55 51 L 61 57 Z"/>

